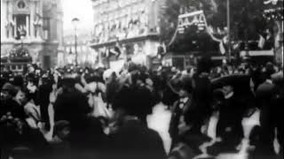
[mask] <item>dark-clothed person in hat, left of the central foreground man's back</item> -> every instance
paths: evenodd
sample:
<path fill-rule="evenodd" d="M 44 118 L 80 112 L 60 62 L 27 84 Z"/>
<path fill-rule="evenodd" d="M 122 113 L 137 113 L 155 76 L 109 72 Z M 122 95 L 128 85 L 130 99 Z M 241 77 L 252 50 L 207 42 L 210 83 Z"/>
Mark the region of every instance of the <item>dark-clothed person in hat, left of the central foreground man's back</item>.
<path fill-rule="evenodd" d="M 106 142 L 102 124 L 98 118 L 89 116 L 87 97 L 75 89 L 75 82 L 68 76 L 62 79 L 62 93 L 50 103 L 54 104 L 55 122 L 67 121 L 70 130 L 66 138 L 69 147 L 54 151 L 51 154 L 54 158 L 96 158 Z"/>

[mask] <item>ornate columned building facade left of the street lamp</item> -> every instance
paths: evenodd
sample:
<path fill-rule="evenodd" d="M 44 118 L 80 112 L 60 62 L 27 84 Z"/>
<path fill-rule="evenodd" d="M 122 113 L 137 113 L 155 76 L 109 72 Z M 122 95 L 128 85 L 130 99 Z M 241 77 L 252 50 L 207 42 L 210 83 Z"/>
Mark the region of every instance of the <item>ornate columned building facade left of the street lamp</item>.
<path fill-rule="evenodd" d="M 63 52 L 62 18 L 60 0 L 1 0 L 1 58 L 8 57 L 9 66 L 25 50 L 23 56 L 44 69 L 56 65 Z"/>

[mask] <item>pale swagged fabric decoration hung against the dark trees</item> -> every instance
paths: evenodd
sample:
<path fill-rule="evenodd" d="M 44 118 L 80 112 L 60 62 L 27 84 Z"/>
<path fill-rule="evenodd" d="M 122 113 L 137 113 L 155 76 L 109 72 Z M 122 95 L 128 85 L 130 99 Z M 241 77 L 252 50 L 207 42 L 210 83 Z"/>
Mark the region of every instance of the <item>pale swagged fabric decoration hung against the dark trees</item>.
<path fill-rule="evenodd" d="M 170 42 L 167 44 L 167 46 L 170 46 L 173 42 L 175 42 L 177 38 L 177 33 L 183 33 L 185 31 L 185 27 L 190 27 L 193 25 L 200 26 L 199 24 L 204 23 L 206 32 L 209 34 L 211 39 L 215 42 L 222 42 L 222 39 L 218 39 L 214 36 L 213 30 L 211 27 L 209 27 L 206 17 L 204 15 L 203 11 L 193 11 L 190 13 L 182 14 L 178 16 L 178 24 L 177 29 L 175 31 L 175 34 L 171 38 Z M 221 44 L 220 44 L 221 45 Z"/>

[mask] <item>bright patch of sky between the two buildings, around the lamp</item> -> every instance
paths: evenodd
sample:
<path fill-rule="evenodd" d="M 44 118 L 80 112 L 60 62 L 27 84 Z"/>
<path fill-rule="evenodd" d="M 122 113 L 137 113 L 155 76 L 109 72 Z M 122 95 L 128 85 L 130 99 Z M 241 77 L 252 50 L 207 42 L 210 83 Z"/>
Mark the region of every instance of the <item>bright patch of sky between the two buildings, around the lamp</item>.
<path fill-rule="evenodd" d="M 92 7 L 91 0 L 62 0 L 64 11 L 64 34 L 70 34 L 74 31 L 71 20 L 80 19 L 79 32 L 91 31 L 92 27 Z"/>

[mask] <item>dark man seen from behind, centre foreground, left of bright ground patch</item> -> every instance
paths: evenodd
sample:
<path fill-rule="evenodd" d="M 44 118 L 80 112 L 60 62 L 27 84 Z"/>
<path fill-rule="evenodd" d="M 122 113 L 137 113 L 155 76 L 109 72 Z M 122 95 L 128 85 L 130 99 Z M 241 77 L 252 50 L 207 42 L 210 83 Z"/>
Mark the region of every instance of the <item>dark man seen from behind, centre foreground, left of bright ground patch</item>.
<path fill-rule="evenodd" d="M 146 95 L 149 94 L 149 95 Z M 166 154 L 158 133 L 144 119 L 153 105 L 150 92 L 139 87 L 123 87 L 114 100 L 116 128 L 109 137 L 107 158 L 164 159 Z M 145 110 L 146 109 L 146 110 Z"/>

